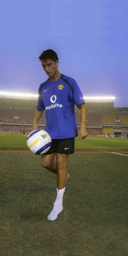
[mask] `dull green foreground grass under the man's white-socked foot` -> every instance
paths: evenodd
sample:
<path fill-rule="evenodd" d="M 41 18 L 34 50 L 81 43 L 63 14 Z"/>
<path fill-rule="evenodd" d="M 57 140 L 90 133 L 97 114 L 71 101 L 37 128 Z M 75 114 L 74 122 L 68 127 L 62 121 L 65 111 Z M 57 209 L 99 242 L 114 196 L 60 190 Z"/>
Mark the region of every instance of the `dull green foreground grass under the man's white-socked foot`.
<path fill-rule="evenodd" d="M 88 138 L 89 140 L 89 138 Z M 74 153 L 63 212 L 47 220 L 56 176 L 30 152 L 0 152 L 1 255 L 126 256 L 127 156 Z"/>

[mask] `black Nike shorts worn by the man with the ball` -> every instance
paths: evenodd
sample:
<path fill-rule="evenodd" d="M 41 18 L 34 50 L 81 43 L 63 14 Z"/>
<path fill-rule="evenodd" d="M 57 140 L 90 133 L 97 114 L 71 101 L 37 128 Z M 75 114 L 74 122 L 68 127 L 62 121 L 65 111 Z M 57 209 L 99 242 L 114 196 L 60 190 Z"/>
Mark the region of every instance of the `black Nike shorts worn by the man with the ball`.
<path fill-rule="evenodd" d="M 52 146 L 48 152 L 43 155 L 50 155 L 52 153 L 72 154 L 74 153 L 74 138 L 67 139 L 52 139 Z"/>

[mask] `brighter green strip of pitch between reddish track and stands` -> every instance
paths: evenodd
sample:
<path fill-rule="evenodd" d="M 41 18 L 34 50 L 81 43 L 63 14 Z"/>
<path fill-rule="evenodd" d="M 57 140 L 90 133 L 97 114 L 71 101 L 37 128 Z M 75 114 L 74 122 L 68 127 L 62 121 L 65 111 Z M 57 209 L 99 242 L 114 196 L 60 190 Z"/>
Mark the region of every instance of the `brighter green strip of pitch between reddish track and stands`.
<path fill-rule="evenodd" d="M 4 135 L 0 134 L 0 148 L 27 149 L 27 135 Z M 105 137 L 87 137 L 84 140 L 75 139 L 76 149 L 117 149 L 128 150 L 128 139 L 124 138 L 105 138 Z"/>

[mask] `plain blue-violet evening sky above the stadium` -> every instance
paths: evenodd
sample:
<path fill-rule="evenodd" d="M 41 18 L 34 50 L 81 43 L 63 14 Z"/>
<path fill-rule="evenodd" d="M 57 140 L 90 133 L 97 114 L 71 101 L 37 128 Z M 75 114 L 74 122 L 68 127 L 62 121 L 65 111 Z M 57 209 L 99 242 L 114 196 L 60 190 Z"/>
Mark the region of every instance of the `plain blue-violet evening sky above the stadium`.
<path fill-rule="evenodd" d="M 0 10 L 2 91 L 37 93 L 38 56 L 52 48 L 84 95 L 128 106 L 127 0 L 3 0 Z"/>

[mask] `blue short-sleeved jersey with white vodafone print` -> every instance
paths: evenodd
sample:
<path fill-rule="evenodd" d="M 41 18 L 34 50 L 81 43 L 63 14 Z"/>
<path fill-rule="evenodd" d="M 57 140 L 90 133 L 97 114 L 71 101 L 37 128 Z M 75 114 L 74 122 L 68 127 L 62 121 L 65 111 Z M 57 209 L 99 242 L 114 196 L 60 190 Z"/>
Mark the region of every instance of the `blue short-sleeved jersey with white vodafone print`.
<path fill-rule="evenodd" d="M 46 131 L 52 139 L 78 136 L 74 105 L 85 104 L 76 81 L 62 75 L 52 82 L 49 79 L 39 87 L 37 110 L 46 110 Z"/>

